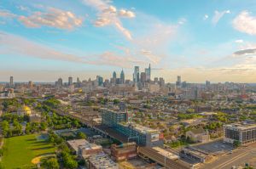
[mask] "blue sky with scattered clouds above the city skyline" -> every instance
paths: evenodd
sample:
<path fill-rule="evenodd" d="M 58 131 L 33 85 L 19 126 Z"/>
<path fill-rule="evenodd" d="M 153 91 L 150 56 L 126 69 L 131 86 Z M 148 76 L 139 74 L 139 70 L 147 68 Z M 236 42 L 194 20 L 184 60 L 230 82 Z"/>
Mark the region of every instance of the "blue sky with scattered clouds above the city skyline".
<path fill-rule="evenodd" d="M 1 0 L 0 82 L 256 82 L 255 0 Z"/>

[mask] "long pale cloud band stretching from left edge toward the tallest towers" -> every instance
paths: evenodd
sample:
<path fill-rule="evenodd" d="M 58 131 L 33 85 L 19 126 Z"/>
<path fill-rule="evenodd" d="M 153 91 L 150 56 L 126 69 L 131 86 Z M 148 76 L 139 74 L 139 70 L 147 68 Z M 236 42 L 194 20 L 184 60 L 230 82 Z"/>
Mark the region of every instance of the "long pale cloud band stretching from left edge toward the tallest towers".
<path fill-rule="evenodd" d="M 102 54 L 79 56 L 60 52 L 38 42 L 32 42 L 24 37 L 3 31 L 0 31 L 0 46 L 0 55 L 13 54 L 38 59 L 60 60 L 87 65 L 114 65 L 119 67 L 131 67 L 135 64 L 144 63 L 143 60 L 133 57 L 129 51 L 125 54 L 116 54 L 107 51 Z"/>

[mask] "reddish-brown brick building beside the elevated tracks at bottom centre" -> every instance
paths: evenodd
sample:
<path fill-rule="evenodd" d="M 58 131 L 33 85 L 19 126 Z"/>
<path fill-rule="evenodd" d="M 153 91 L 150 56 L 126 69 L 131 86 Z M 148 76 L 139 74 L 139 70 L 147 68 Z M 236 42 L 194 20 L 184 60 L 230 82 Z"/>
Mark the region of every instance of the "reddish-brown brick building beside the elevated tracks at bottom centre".
<path fill-rule="evenodd" d="M 130 160 L 137 156 L 137 146 L 136 143 L 127 144 L 112 144 L 111 145 L 111 155 L 114 161 L 125 161 Z"/>

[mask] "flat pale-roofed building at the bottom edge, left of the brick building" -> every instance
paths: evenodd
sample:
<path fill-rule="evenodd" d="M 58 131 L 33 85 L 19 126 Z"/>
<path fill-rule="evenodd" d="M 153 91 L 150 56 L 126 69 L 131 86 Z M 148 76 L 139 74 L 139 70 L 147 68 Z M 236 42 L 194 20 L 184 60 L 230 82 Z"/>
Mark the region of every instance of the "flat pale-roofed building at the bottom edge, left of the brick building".
<path fill-rule="evenodd" d="M 91 155 L 89 160 L 89 169 L 118 169 L 119 166 L 117 163 L 112 161 L 108 155 L 100 153 L 97 155 Z"/>

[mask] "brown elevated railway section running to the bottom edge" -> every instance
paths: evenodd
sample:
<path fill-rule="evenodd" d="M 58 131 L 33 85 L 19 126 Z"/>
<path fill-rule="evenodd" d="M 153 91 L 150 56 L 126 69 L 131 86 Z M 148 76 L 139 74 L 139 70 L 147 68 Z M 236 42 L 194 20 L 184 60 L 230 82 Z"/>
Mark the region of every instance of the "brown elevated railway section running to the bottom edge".
<path fill-rule="evenodd" d="M 141 157 L 148 158 L 151 161 L 154 161 L 168 169 L 189 169 L 190 168 L 188 164 L 185 164 L 182 161 L 174 161 L 169 158 L 166 158 L 165 155 L 161 155 L 158 151 L 150 147 L 139 147 L 138 154 Z"/>

